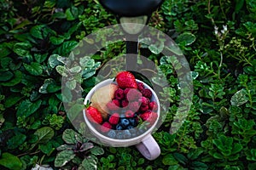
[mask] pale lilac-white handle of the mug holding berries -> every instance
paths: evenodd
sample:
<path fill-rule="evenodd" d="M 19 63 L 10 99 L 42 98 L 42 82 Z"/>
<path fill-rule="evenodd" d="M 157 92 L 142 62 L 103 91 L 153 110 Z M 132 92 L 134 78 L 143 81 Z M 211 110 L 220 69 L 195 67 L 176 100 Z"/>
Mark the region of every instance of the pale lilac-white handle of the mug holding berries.
<path fill-rule="evenodd" d="M 148 134 L 141 143 L 136 144 L 136 147 L 150 161 L 160 156 L 160 147 L 151 134 Z"/>

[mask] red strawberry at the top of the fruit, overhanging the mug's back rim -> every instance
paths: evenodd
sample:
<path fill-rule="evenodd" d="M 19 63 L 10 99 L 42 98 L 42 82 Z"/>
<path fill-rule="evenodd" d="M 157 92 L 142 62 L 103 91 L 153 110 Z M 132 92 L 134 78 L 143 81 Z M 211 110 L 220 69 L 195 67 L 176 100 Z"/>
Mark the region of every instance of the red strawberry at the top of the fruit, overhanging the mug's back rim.
<path fill-rule="evenodd" d="M 120 88 L 137 88 L 136 79 L 129 71 L 121 71 L 115 78 Z"/>

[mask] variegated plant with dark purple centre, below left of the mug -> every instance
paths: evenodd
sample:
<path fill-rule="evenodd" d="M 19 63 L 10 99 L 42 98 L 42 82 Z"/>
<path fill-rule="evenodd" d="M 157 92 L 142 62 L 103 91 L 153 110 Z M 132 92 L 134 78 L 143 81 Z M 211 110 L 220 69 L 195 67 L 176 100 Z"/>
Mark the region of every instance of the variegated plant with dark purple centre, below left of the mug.
<path fill-rule="evenodd" d="M 72 129 L 66 129 L 62 144 L 56 150 L 60 152 L 55 158 L 55 167 L 97 169 L 98 159 L 104 153 L 101 147 L 96 146 Z"/>

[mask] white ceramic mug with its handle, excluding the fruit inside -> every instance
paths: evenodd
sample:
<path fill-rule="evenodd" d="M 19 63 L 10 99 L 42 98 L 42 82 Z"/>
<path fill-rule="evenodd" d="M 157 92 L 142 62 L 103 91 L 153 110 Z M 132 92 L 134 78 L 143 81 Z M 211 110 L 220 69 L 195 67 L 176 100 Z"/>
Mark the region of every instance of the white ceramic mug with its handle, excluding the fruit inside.
<path fill-rule="evenodd" d="M 142 82 L 142 81 L 137 80 L 137 82 Z M 90 90 L 89 94 L 87 94 L 86 98 L 84 99 L 84 105 L 86 105 L 88 103 L 88 101 L 90 101 L 90 98 L 91 98 L 92 94 L 95 93 L 96 89 L 102 88 L 103 86 L 106 86 L 110 83 L 113 83 L 113 79 L 107 79 L 107 80 L 104 80 L 104 81 L 96 84 L 96 86 Z M 107 136 L 98 132 L 96 130 L 96 128 L 93 127 L 93 125 L 90 123 L 90 121 L 85 116 L 85 111 L 84 111 L 84 120 L 85 120 L 86 125 L 89 127 L 90 132 L 97 139 L 99 139 L 102 144 L 108 144 L 109 146 L 113 146 L 113 147 L 125 147 L 125 146 L 135 144 L 137 147 L 137 150 L 139 150 L 144 157 L 146 157 L 148 160 L 154 160 L 155 158 L 160 156 L 160 147 L 154 140 L 151 133 L 154 130 L 154 127 L 156 126 L 156 124 L 160 118 L 160 102 L 159 102 L 159 99 L 157 98 L 157 95 L 154 93 L 154 90 L 152 88 L 150 88 L 148 86 L 148 84 L 146 84 L 144 82 L 143 82 L 143 84 L 144 84 L 145 88 L 148 88 L 151 90 L 151 92 L 152 92 L 151 100 L 155 101 L 158 105 L 157 119 L 155 120 L 154 124 L 151 127 L 149 127 L 148 130 L 145 131 L 144 133 L 142 133 L 134 138 L 131 138 L 131 139 L 112 139 L 112 138 L 108 138 Z"/>

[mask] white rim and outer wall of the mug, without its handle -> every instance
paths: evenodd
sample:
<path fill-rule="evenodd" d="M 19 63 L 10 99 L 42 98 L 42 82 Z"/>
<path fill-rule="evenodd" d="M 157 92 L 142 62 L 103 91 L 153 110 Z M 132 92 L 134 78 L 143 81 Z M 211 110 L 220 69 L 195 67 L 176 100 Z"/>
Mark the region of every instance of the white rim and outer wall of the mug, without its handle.
<path fill-rule="evenodd" d="M 96 92 L 96 89 L 102 88 L 103 86 L 111 84 L 111 83 L 115 83 L 116 84 L 116 82 L 114 82 L 113 80 L 114 79 L 110 79 L 110 78 L 106 79 L 106 80 L 103 80 L 102 82 L 97 83 L 95 87 L 91 88 L 90 92 L 86 95 L 86 97 L 84 99 L 84 105 L 86 105 L 88 103 L 88 101 L 90 101 L 90 98 Z M 143 82 L 143 81 L 136 79 L 136 82 Z M 151 92 L 152 92 L 152 94 L 154 96 L 154 101 L 158 105 L 158 109 L 156 111 L 157 119 L 155 120 L 154 124 L 151 127 L 149 127 L 148 130 L 145 131 L 144 133 L 142 133 L 142 134 L 140 134 L 140 135 L 138 135 L 136 137 L 133 137 L 131 139 L 112 139 L 112 138 L 109 138 L 108 136 L 103 135 L 98 130 L 96 130 L 96 127 L 94 127 L 92 125 L 92 123 L 87 119 L 87 116 L 85 115 L 85 110 L 83 110 L 84 121 L 85 121 L 86 125 L 89 127 L 90 132 L 93 133 L 94 136 L 97 139 L 99 139 L 100 141 L 103 140 L 104 143 L 107 142 L 108 144 L 113 142 L 115 145 L 118 145 L 118 144 L 129 144 L 129 143 L 137 144 L 137 143 L 140 143 L 141 140 L 145 136 L 148 136 L 148 134 L 150 134 L 153 131 L 154 127 L 156 126 L 157 122 L 160 119 L 160 101 L 159 101 L 157 95 L 155 94 L 154 90 L 150 86 L 148 86 L 147 83 L 143 82 L 143 85 L 145 86 L 145 88 L 148 88 L 148 89 L 151 90 Z M 114 131 L 118 131 L 118 130 L 114 130 Z"/>

